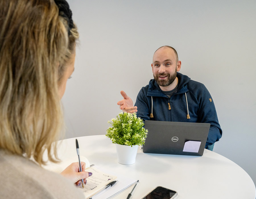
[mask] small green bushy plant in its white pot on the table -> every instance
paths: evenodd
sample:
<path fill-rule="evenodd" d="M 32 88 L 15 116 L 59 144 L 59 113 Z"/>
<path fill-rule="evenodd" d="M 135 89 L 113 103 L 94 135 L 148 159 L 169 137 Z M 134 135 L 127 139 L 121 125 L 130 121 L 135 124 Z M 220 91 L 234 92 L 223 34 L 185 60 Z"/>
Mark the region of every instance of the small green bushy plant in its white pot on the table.
<path fill-rule="evenodd" d="M 144 122 L 136 113 L 119 113 L 116 118 L 108 121 L 112 127 L 106 136 L 116 144 L 117 160 L 121 164 L 133 164 L 138 146 L 145 143 L 148 130 Z"/>

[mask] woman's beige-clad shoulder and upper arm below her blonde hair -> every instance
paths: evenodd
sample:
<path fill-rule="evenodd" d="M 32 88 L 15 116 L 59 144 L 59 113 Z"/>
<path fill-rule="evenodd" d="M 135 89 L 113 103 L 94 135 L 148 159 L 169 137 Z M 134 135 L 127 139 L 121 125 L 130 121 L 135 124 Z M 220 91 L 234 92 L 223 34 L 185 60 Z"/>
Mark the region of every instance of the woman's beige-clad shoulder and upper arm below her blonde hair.
<path fill-rule="evenodd" d="M 84 198 L 65 177 L 22 156 L 0 150 L 0 168 L 0 198 Z"/>

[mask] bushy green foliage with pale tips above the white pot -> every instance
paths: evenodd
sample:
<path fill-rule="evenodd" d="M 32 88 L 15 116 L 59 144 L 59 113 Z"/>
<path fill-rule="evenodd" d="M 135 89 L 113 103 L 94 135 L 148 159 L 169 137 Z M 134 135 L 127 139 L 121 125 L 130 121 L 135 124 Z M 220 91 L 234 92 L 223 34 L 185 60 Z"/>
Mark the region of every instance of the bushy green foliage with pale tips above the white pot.
<path fill-rule="evenodd" d="M 148 130 L 143 127 L 144 122 L 136 113 L 119 113 L 108 123 L 112 127 L 108 128 L 106 136 L 114 144 L 128 146 L 145 144 Z"/>

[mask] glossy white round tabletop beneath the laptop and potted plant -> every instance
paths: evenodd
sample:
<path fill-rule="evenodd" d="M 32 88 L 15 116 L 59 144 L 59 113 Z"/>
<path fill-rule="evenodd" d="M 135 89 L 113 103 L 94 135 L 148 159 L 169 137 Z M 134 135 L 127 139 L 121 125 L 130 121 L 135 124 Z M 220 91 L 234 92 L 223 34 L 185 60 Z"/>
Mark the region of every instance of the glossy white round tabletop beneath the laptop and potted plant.
<path fill-rule="evenodd" d="M 61 159 L 76 155 L 76 138 L 59 141 Z M 251 177 L 236 163 L 215 152 L 206 150 L 203 156 L 145 154 L 139 147 L 136 162 L 122 165 L 117 162 L 115 144 L 105 135 L 77 138 L 80 155 L 90 164 L 140 181 L 133 198 L 141 199 L 156 186 L 176 190 L 179 199 L 239 198 L 255 199 Z M 132 186 L 114 198 L 126 198 Z"/>

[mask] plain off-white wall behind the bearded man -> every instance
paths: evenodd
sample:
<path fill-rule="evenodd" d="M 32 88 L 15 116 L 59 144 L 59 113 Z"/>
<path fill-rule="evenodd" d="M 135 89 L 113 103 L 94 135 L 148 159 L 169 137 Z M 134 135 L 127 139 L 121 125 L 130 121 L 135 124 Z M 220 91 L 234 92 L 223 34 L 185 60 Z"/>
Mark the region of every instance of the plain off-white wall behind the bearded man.
<path fill-rule="evenodd" d="M 121 90 L 134 100 L 152 78 L 154 51 L 176 48 L 181 73 L 214 100 L 217 152 L 256 183 L 256 1 L 68 0 L 80 32 L 63 97 L 66 137 L 105 134 Z M 84 143 L 86 144 L 86 143 Z"/>

